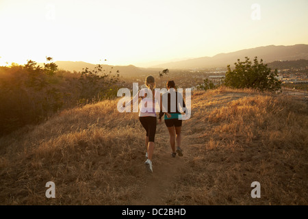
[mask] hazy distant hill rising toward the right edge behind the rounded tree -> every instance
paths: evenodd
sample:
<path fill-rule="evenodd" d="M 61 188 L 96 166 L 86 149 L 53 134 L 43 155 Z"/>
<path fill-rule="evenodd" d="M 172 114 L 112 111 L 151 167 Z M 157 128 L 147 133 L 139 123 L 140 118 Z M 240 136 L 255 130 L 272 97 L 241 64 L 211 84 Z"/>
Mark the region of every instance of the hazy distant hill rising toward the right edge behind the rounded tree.
<path fill-rule="evenodd" d="M 233 65 L 238 59 L 244 60 L 244 57 L 253 59 L 257 56 L 264 62 L 285 61 L 285 60 L 308 60 L 308 45 L 296 44 L 294 46 L 274 46 L 257 47 L 253 49 L 243 49 L 232 53 L 220 53 L 213 57 L 199 57 L 180 62 L 169 62 L 159 64 L 153 67 L 159 68 L 215 68 Z"/>

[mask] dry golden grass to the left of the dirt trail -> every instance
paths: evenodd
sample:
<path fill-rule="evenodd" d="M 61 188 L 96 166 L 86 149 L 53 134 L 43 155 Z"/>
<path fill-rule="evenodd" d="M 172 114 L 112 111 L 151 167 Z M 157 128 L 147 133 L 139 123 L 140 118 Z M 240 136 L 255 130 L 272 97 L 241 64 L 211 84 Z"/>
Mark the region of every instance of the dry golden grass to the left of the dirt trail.
<path fill-rule="evenodd" d="M 116 118 L 114 105 L 68 110 L 17 140 L 18 133 L 1 139 L 1 203 L 127 203 L 138 190 L 138 183 L 129 182 L 142 179 L 144 148 L 137 147 L 143 142 L 136 114 Z M 47 181 L 55 183 L 57 198 L 45 197 Z"/>

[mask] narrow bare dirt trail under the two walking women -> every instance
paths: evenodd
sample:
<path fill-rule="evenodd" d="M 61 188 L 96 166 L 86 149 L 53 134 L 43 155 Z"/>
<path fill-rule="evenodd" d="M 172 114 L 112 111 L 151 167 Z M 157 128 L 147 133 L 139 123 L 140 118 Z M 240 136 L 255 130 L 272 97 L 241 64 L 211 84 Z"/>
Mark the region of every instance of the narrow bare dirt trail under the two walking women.
<path fill-rule="evenodd" d="M 182 130 L 183 136 L 181 140 L 181 148 L 183 149 L 183 157 L 178 155 L 173 158 L 169 144 L 169 134 L 166 126 L 162 124 L 159 127 L 159 137 L 157 142 L 164 144 L 163 147 L 157 148 L 153 155 L 153 173 L 148 173 L 146 185 L 142 189 L 142 196 L 133 200 L 132 205 L 167 205 L 168 196 L 174 191 L 173 185 L 180 171 L 185 169 L 185 160 L 188 159 L 189 153 L 185 150 L 188 145 L 188 138 L 185 138 L 185 129 Z M 156 140 L 155 140 L 156 141 Z M 157 144 L 159 144 L 157 143 Z M 144 170 L 146 171 L 146 170 Z"/>

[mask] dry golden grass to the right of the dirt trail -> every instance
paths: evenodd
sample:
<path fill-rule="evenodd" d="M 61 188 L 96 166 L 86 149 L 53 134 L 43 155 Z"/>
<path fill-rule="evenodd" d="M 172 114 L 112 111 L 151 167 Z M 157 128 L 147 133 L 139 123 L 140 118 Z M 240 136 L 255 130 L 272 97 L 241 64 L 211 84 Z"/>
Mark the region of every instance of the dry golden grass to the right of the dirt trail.
<path fill-rule="evenodd" d="M 225 88 L 192 103 L 201 121 L 185 123 L 193 159 L 170 204 L 307 205 L 306 103 Z M 261 198 L 251 198 L 253 181 Z"/>

